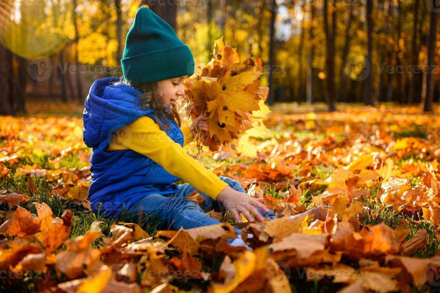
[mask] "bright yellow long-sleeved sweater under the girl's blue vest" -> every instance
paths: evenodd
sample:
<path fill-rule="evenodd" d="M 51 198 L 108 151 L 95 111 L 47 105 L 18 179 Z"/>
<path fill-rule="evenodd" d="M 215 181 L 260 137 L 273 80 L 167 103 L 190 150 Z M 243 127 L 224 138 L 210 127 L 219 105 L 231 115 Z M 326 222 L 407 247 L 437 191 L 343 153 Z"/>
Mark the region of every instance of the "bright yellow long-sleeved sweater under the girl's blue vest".
<path fill-rule="evenodd" d="M 182 126 L 183 146 L 194 140 L 189 126 Z M 121 139 L 123 138 L 123 139 Z M 153 119 L 143 116 L 114 134 L 107 152 L 131 149 L 149 157 L 170 174 L 182 178 L 200 192 L 216 199 L 227 183 L 202 166 L 162 131 Z"/>

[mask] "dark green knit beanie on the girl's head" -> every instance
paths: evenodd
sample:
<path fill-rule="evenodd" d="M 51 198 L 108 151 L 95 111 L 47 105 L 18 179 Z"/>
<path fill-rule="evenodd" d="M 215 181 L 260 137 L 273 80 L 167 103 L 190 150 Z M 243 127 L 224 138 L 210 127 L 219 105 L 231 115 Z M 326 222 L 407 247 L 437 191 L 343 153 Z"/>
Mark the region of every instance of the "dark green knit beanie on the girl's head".
<path fill-rule="evenodd" d="M 148 7 L 136 12 L 121 59 L 122 74 L 132 84 L 194 74 L 190 48 L 172 27 Z"/>

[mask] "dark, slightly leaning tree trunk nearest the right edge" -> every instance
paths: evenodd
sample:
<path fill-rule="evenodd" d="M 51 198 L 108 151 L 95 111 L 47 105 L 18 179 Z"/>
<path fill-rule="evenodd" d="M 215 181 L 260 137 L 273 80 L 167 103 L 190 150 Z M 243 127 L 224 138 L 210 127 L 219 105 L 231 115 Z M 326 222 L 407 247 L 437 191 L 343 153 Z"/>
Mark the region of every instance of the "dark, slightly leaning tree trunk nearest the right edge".
<path fill-rule="evenodd" d="M 429 73 L 426 73 L 424 76 L 424 93 L 422 93 L 422 107 L 423 111 L 432 111 L 433 109 L 433 74 L 432 69 L 434 65 L 434 50 L 436 46 L 436 24 L 437 24 L 437 12 L 434 12 L 435 9 L 435 0 L 429 2 L 432 4 L 431 7 L 431 21 L 429 23 L 429 37 L 428 37 L 428 62 L 427 65 L 429 67 Z"/>

